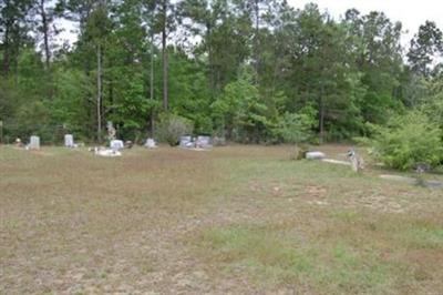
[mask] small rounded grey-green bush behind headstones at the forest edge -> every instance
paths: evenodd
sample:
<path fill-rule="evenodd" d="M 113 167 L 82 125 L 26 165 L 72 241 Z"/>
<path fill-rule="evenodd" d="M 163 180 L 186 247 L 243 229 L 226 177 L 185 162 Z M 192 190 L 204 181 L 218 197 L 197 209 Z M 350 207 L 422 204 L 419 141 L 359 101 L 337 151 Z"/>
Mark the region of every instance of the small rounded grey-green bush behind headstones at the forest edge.
<path fill-rule="evenodd" d="M 171 146 L 178 145 L 183 135 L 193 133 L 193 123 L 186 118 L 175 114 L 163 114 L 157 128 L 157 138 Z"/>

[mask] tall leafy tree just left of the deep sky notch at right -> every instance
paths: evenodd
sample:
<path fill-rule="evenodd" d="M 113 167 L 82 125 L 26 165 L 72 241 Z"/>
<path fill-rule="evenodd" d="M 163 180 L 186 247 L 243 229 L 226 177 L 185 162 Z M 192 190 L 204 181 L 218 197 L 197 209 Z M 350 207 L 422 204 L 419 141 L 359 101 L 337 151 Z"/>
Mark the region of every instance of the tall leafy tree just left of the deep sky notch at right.
<path fill-rule="evenodd" d="M 358 37 L 354 41 L 354 64 L 367 88 L 361 109 L 365 121 L 383 123 L 390 110 L 398 110 L 402 74 L 401 23 L 393 23 L 384 13 L 359 16 L 348 13 L 347 27 Z"/>

